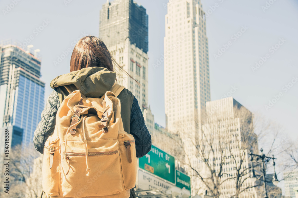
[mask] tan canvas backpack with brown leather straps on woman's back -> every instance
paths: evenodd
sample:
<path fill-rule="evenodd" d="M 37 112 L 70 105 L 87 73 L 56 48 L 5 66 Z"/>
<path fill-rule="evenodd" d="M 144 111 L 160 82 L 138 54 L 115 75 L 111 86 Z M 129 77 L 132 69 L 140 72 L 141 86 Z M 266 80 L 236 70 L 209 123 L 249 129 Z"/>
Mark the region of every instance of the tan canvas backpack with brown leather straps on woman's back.
<path fill-rule="evenodd" d="M 100 98 L 73 91 L 61 103 L 44 146 L 43 190 L 51 197 L 129 197 L 136 183 L 136 147 L 123 130 L 115 83 Z"/>

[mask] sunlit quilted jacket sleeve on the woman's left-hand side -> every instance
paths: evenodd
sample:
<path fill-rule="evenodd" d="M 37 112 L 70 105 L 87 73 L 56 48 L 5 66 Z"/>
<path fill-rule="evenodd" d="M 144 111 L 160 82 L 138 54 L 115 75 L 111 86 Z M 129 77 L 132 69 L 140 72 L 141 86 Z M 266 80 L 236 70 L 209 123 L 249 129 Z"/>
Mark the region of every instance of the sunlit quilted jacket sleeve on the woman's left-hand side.
<path fill-rule="evenodd" d="M 58 92 L 52 91 L 46 101 L 46 107 L 41 113 L 41 121 L 34 131 L 33 143 L 41 154 L 44 153 L 44 144 L 48 137 L 53 134 L 56 122 L 56 113 L 60 106 Z"/>

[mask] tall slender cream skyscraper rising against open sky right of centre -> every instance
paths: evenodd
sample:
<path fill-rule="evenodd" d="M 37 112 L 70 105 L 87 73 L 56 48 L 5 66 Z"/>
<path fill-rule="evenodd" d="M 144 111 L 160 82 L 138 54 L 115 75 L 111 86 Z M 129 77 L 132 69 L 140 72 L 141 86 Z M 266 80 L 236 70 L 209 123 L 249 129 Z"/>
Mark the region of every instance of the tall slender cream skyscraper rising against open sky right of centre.
<path fill-rule="evenodd" d="M 210 101 L 206 18 L 200 0 L 167 4 L 164 37 L 164 97 L 166 127 L 184 126 L 193 135 Z M 188 121 L 186 123 L 186 121 Z"/>

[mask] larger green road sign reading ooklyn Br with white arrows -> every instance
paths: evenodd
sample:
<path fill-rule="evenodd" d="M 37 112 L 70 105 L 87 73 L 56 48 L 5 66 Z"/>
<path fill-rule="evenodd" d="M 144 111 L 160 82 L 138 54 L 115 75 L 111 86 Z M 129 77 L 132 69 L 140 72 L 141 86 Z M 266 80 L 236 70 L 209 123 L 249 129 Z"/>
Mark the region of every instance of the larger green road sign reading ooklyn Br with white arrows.
<path fill-rule="evenodd" d="M 175 183 L 175 158 L 156 146 L 152 145 L 151 151 L 139 158 L 139 167 Z"/>

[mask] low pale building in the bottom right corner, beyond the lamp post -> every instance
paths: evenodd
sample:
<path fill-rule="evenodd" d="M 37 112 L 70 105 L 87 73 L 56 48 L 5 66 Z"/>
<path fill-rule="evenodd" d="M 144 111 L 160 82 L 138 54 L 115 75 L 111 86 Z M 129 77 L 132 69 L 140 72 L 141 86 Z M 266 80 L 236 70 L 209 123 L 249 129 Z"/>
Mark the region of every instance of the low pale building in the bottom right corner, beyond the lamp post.
<path fill-rule="evenodd" d="M 285 178 L 285 197 L 295 198 L 294 190 L 298 188 L 298 169 L 284 172 L 283 177 Z"/>

